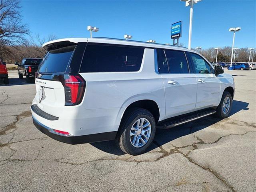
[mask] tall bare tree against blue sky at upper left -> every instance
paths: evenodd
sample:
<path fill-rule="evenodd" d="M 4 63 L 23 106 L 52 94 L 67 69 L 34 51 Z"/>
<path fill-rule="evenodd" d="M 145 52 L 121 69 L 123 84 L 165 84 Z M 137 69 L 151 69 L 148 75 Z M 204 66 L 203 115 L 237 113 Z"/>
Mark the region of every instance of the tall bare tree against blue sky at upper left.
<path fill-rule="evenodd" d="M 0 59 L 6 46 L 23 44 L 29 34 L 26 24 L 22 24 L 19 0 L 0 0 Z"/>

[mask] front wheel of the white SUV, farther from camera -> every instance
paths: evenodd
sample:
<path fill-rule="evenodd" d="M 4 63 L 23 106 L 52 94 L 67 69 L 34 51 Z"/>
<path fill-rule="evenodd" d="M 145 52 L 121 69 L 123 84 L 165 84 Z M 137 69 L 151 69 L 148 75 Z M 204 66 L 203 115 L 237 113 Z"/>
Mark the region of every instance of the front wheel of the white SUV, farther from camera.
<path fill-rule="evenodd" d="M 229 101 L 229 104 L 228 104 L 228 101 Z M 220 100 L 220 104 L 217 107 L 216 116 L 218 118 L 227 118 L 230 114 L 232 103 L 233 103 L 233 100 L 230 92 L 224 91 L 222 98 Z"/>

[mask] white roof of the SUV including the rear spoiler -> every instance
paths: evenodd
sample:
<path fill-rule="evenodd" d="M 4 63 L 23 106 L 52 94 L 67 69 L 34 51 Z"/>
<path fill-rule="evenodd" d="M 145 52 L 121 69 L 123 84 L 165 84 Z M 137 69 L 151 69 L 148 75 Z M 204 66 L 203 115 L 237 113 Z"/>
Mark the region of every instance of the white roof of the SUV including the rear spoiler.
<path fill-rule="evenodd" d="M 132 46 L 143 46 L 148 48 L 172 48 L 176 50 L 188 50 L 185 47 L 180 46 L 172 46 L 172 45 L 165 45 L 165 44 L 158 44 L 158 43 L 148 43 L 148 42 L 141 42 L 141 41 L 134 41 L 134 40 L 124 40 L 124 39 L 114 39 L 114 38 L 104 38 L 104 37 L 96 37 L 96 38 L 65 38 L 65 39 L 58 39 L 47 42 L 43 44 L 43 48 L 47 50 L 47 46 L 50 44 L 54 44 L 56 42 L 93 42 L 93 43 L 106 43 L 106 44 L 120 44 L 120 45 L 132 45 Z"/>

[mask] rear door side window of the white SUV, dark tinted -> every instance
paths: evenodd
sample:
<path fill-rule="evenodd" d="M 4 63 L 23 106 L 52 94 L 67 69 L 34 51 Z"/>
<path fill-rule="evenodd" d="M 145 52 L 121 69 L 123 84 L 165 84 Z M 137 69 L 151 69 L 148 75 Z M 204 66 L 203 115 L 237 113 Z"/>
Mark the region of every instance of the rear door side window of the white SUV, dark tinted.
<path fill-rule="evenodd" d="M 164 50 L 170 73 L 189 73 L 188 63 L 183 51 Z"/>

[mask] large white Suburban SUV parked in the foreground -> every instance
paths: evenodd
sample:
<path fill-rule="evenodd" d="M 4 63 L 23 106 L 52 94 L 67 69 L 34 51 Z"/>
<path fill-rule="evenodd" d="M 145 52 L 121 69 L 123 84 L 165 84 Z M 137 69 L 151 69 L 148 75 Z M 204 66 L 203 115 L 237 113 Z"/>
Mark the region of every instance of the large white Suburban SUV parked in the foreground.
<path fill-rule="evenodd" d="M 31 106 L 34 125 L 69 144 L 116 140 L 141 154 L 156 128 L 230 114 L 234 80 L 195 51 L 109 38 L 43 45 Z"/>

